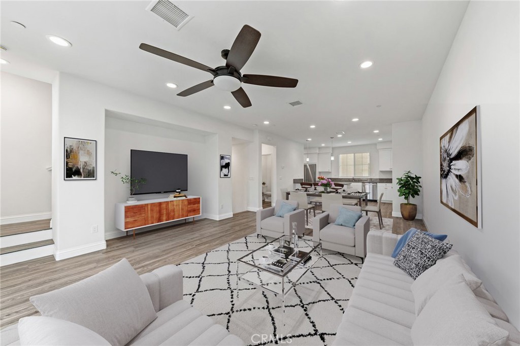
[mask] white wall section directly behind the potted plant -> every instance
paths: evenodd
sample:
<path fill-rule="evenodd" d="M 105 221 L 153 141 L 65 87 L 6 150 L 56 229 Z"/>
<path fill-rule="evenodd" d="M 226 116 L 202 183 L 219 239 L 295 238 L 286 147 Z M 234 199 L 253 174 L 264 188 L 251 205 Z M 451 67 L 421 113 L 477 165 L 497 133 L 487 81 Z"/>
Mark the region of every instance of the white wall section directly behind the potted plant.
<path fill-rule="evenodd" d="M 410 170 L 422 177 L 422 121 L 392 124 L 392 182 L 394 184 L 394 202 L 392 216 L 401 216 L 401 203 L 406 203 L 405 197 L 399 197 L 397 179 Z M 424 179 L 421 179 L 424 186 Z M 423 193 L 410 198 L 410 203 L 417 204 L 417 218 L 422 219 Z"/>

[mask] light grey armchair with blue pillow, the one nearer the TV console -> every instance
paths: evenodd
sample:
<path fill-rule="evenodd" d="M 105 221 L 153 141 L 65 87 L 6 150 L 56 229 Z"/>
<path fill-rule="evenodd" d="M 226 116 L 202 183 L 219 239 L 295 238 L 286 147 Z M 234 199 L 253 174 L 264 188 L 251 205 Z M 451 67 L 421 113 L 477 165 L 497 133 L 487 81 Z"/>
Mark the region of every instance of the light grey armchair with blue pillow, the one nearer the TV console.
<path fill-rule="evenodd" d="M 296 210 L 288 212 L 283 217 L 275 216 L 282 203 L 294 205 Z M 296 232 L 298 235 L 302 235 L 305 232 L 305 211 L 298 209 L 298 202 L 296 201 L 277 199 L 274 207 L 256 211 L 256 236 L 266 235 L 278 238 L 283 234 L 291 235 L 293 222 L 297 223 Z"/>

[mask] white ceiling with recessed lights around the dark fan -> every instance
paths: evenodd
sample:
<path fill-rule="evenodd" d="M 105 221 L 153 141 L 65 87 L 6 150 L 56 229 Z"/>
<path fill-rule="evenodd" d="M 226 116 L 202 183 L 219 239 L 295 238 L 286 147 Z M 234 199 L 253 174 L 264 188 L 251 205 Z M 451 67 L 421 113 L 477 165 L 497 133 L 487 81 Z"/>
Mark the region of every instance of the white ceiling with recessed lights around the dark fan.
<path fill-rule="evenodd" d="M 302 143 L 312 138 L 311 146 L 329 145 L 335 131 L 346 134 L 334 147 L 375 143 L 391 140 L 392 123 L 422 117 L 467 7 L 460 1 L 174 1 L 194 16 L 177 31 L 146 11 L 149 3 L 2 1 L 0 43 L 10 61 L 2 70 L 48 82 L 54 71 L 72 73 Z M 253 104 L 246 109 L 217 88 L 176 96 L 211 75 L 138 48 L 148 43 L 215 67 L 244 24 L 262 37 L 241 72 L 300 81 L 294 89 L 243 85 Z M 73 46 L 56 46 L 46 34 Z M 365 60 L 374 65 L 359 69 Z M 296 100 L 303 105 L 289 105 Z M 232 109 L 224 110 L 226 104 Z"/>

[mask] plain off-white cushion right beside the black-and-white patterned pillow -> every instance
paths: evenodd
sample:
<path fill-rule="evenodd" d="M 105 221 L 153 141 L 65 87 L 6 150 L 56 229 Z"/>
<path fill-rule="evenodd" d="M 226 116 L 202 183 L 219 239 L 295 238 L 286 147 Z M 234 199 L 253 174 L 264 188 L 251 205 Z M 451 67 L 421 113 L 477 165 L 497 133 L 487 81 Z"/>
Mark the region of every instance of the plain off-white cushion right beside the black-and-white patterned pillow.
<path fill-rule="evenodd" d="M 482 285 L 482 281 L 466 269 L 463 259 L 459 255 L 450 256 L 442 261 L 439 260 L 419 275 L 410 287 L 415 300 L 415 315 L 419 316 L 424 305 L 435 292 L 450 278 L 458 274 L 464 275 L 467 285 L 472 290 Z"/>

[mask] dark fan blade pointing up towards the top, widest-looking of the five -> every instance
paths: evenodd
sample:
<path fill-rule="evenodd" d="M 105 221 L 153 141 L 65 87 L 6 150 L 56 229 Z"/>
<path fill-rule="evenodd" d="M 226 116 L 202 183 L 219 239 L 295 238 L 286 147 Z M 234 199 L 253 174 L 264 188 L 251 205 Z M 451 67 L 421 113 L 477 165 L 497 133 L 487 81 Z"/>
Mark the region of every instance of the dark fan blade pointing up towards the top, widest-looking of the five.
<path fill-rule="evenodd" d="M 244 25 L 229 50 L 226 66 L 233 66 L 240 71 L 253 54 L 261 35 L 258 30 L 251 28 L 249 25 Z"/>

